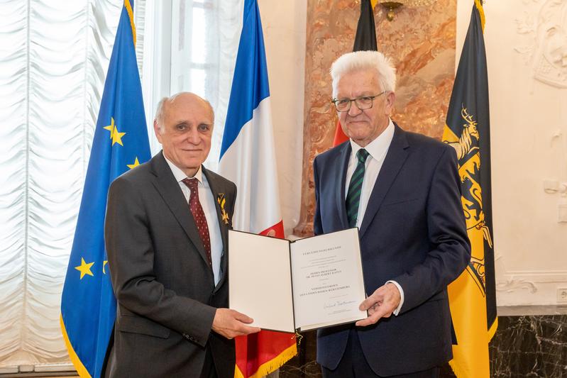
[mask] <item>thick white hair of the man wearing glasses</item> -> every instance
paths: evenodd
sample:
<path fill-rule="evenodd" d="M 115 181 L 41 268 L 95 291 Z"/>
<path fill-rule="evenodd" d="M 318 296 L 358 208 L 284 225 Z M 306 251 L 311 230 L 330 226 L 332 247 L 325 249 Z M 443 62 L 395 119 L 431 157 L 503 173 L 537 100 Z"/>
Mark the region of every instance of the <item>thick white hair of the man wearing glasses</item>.
<path fill-rule="evenodd" d="M 333 97 L 336 96 L 338 81 L 343 74 L 359 70 L 376 70 L 382 91 L 396 90 L 396 69 L 389 57 L 378 51 L 348 52 L 338 57 L 331 65 Z"/>

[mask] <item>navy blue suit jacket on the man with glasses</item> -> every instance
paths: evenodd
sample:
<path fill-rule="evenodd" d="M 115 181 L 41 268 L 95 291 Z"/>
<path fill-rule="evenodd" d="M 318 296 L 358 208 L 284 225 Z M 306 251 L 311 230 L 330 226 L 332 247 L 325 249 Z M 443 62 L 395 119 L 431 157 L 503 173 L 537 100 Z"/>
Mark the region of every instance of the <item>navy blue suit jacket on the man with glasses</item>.
<path fill-rule="evenodd" d="M 314 233 L 348 228 L 345 180 L 349 142 L 314 160 Z M 451 146 L 395 126 L 395 133 L 360 226 L 367 295 L 387 280 L 404 290 L 398 316 L 358 329 L 378 375 L 406 374 L 452 357 L 447 285 L 470 260 L 456 153 Z M 348 328 L 319 330 L 317 362 L 335 369 Z"/>

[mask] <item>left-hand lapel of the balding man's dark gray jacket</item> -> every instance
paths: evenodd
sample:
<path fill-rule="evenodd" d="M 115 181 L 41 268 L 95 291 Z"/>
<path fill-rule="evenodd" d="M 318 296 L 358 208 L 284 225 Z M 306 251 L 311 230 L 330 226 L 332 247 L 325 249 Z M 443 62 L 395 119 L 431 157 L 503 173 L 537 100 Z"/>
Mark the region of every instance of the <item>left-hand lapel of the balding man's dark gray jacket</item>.
<path fill-rule="evenodd" d="M 187 201 L 185 201 L 185 196 L 183 196 L 179 183 L 175 181 L 175 177 L 170 167 L 167 165 L 165 157 L 163 157 L 163 152 L 153 157 L 152 168 L 155 174 L 155 178 L 153 179 L 155 189 L 158 190 L 163 201 L 167 204 L 167 207 L 170 208 L 170 211 L 180 223 L 183 230 L 185 230 L 185 233 L 187 233 L 187 236 L 197 251 L 199 251 L 199 255 L 201 255 L 203 260 L 209 265 L 199 230 L 197 230 L 195 221 L 189 211 L 189 205 Z"/>

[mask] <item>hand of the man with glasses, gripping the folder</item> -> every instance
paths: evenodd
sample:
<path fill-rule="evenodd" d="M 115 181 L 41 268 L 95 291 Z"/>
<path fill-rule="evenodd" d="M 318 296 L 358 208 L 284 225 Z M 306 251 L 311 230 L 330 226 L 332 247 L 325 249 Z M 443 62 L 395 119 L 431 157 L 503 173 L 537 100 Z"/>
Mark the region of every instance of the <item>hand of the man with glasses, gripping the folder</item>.
<path fill-rule="evenodd" d="M 380 318 L 389 318 L 400 304 L 401 296 L 395 284 L 388 282 L 379 287 L 358 308 L 368 310 L 368 318 L 356 322 L 356 326 L 365 327 L 375 324 Z"/>

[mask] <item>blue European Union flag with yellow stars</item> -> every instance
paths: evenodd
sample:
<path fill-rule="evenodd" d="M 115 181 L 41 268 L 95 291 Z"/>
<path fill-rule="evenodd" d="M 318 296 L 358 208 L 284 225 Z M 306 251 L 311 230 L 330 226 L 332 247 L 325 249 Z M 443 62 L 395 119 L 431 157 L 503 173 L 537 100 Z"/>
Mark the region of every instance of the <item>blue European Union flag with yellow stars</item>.
<path fill-rule="evenodd" d="M 132 6 L 133 1 L 124 1 L 61 299 L 61 330 L 80 377 L 101 376 L 116 318 L 116 299 L 104 250 L 109 184 L 150 159 Z"/>

